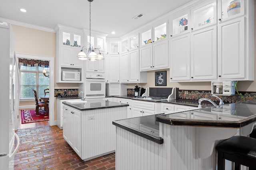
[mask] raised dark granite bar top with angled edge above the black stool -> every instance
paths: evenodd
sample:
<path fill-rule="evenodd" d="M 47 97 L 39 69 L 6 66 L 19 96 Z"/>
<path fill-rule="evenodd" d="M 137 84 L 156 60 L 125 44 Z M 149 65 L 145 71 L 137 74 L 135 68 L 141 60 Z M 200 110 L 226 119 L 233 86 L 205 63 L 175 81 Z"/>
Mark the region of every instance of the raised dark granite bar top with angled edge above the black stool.
<path fill-rule="evenodd" d="M 256 100 L 159 115 L 170 125 L 240 128 L 256 122 Z"/>

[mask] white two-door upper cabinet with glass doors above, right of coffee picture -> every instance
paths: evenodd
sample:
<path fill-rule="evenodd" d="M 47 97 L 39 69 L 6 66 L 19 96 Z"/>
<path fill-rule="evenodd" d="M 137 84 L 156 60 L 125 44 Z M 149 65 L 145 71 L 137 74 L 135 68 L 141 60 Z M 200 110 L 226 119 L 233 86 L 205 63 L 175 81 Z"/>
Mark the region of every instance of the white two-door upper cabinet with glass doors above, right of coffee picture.
<path fill-rule="evenodd" d="M 214 80 L 217 78 L 216 2 L 208 0 L 196 5 L 191 9 L 191 20 L 189 14 L 180 14 L 180 18 L 192 25 L 190 30 L 185 22 L 178 27 L 177 18 L 171 22 L 176 36 L 170 40 L 170 81 Z M 182 66 L 176 66 L 181 62 Z"/>

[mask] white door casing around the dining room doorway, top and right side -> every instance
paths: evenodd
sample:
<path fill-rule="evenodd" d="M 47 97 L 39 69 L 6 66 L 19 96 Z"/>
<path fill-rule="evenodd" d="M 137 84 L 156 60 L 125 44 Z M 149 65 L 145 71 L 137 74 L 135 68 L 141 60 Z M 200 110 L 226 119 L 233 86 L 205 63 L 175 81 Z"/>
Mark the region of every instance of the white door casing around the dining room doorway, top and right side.
<path fill-rule="evenodd" d="M 55 57 L 49 57 L 49 56 L 39 56 L 39 55 L 30 55 L 30 54 L 21 54 L 21 53 L 16 53 L 16 56 L 18 58 L 23 58 L 23 59 L 37 59 L 37 60 L 45 60 L 45 61 L 50 61 L 49 62 L 49 68 L 50 68 L 50 96 L 49 96 L 49 125 L 53 126 L 55 125 L 54 121 L 54 58 Z M 51 102 L 52 101 L 52 102 Z"/>

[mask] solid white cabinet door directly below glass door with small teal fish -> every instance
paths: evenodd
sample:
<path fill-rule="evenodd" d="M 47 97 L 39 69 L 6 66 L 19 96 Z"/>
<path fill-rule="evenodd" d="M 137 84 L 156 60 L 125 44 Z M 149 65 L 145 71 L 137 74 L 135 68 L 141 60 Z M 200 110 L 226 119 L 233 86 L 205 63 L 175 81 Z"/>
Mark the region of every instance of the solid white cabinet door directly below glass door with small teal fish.
<path fill-rule="evenodd" d="M 191 33 L 191 80 L 217 78 L 217 26 Z"/>

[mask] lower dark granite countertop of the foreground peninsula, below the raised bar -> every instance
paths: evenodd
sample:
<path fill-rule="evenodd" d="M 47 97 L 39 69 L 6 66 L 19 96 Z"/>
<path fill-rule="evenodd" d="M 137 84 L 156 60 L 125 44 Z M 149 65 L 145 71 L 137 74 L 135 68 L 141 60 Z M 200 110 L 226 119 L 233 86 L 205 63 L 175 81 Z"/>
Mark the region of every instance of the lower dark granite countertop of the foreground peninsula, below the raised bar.
<path fill-rule="evenodd" d="M 162 144 L 164 140 L 159 137 L 159 122 L 156 121 L 157 115 L 160 114 L 117 120 L 112 123 L 150 141 Z"/>

